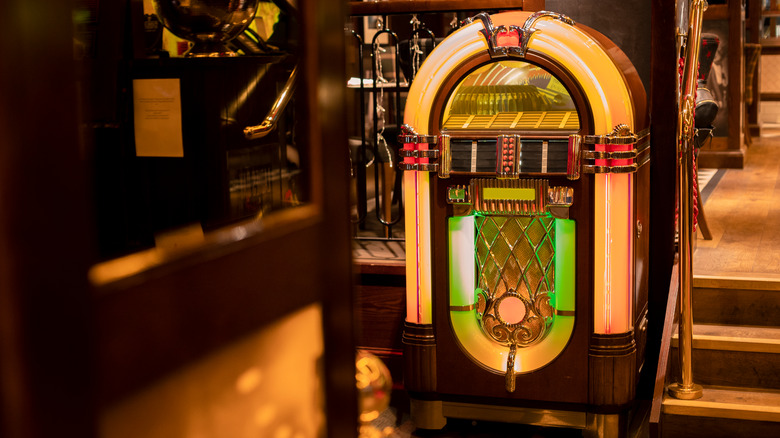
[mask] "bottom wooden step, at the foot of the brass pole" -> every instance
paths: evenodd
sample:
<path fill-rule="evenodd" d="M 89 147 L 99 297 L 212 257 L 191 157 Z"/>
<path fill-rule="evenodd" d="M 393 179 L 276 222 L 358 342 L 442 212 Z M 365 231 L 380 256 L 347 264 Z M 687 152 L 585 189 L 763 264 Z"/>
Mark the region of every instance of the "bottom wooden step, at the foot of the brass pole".
<path fill-rule="evenodd" d="M 663 437 L 780 436 L 780 391 L 704 386 L 702 398 L 663 400 Z"/>

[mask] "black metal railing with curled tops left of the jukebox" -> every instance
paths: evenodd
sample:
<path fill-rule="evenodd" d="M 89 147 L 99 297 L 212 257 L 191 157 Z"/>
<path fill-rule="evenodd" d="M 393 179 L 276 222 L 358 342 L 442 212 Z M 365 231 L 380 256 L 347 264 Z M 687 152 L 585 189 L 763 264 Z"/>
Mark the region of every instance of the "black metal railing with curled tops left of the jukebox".
<path fill-rule="evenodd" d="M 358 123 L 360 144 L 356 153 L 350 152 L 352 160 L 352 179 L 355 190 L 353 209 L 353 238 L 358 240 L 403 240 L 403 197 L 401 196 L 402 171 L 399 163 L 396 136 L 403 124 L 404 93 L 408 92 L 419 68 L 421 54 L 418 44 L 421 36 L 431 41 L 430 48 L 436 44 L 433 32 L 417 21 L 412 15 L 412 31 L 408 36 L 408 53 L 402 52 L 402 40 L 389 27 L 388 17 L 379 16 L 377 29 L 371 37 L 370 46 L 365 44 L 359 32 L 351 30 L 352 44 L 356 46 L 357 81 L 351 85 L 358 97 Z M 366 57 L 366 48 L 370 53 Z M 402 57 L 410 67 L 403 71 Z M 384 60 L 392 61 L 390 80 L 385 78 Z M 370 62 L 370 78 L 366 78 L 364 65 Z M 404 81 L 405 80 L 405 81 Z M 366 95 L 370 96 L 366 102 Z M 367 104 L 371 107 L 367 107 Z M 370 118 L 371 120 L 367 119 Z M 370 126 L 369 126 L 370 125 Z M 370 148 L 370 149 L 369 149 Z M 369 157 L 370 153 L 370 157 Z M 367 171 L 373 167 L 373 175 Z M 373 186 L 373 206 L 371 193 Z M 373 217 L 369 212 L 373 208 Z M 378 228 L 379 232 L 371 232 Z M 369 229 L 367 231 L 367 228 Z"/>

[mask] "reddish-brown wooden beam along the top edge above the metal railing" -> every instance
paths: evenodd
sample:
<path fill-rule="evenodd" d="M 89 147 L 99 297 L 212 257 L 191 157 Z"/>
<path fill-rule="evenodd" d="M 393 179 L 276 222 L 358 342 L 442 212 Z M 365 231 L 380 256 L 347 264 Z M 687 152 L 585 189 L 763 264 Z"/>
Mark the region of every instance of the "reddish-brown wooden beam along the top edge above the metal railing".
<path fill-rule="evenodd" d="M 350 15 L 411 14 L 415 12 L 483 11 L 489 9 L 539 10 L 540 0 L 384 0 L 350 1 Z"/>

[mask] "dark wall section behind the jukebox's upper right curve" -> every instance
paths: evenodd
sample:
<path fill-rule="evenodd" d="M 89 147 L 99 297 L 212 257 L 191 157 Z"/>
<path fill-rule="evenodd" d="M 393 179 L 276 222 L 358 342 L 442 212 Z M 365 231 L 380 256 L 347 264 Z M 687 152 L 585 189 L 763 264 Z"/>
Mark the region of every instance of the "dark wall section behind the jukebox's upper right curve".
<path fill-rule="evenodd" d="M 650 1 L 546 0 L 545 9 L 603 33 L 634 64 L 645 90 L 650 92 Z"/>

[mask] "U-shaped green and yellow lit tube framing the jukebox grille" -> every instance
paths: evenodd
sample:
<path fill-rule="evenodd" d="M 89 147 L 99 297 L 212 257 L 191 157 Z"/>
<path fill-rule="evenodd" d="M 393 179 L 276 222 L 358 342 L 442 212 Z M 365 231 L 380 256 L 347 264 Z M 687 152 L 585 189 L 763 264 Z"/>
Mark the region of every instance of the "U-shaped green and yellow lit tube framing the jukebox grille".
<path fill-rule="evenodd" d="M 450 322 L 460 347 L 474 361 L 498 373 L 506 373 L 509 348 L 492 341 L 477 320 L 476 265 L 474 262 L 474 217 L 448 219 L 450 267 Z M 555 220 L 555 293 L 550 304 L 557 312 L 547 337 L 530 347 L 518 348 L 515 372 L 527 373 L 552 362 L 566 347 L 574 330 L 575 223 Z"/>

